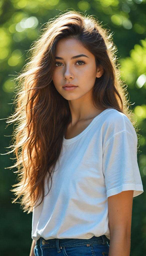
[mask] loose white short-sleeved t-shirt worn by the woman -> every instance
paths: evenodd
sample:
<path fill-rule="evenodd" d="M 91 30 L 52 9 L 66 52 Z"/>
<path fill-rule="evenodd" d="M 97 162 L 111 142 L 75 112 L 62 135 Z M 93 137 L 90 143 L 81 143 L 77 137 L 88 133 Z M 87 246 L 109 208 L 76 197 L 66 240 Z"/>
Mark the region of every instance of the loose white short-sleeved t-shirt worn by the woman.
<path fill-rule="evenodd" d="M 143 192 L 137 135 L 124 114 L 106 109 L 82 133 L 64 138 L 51 190 L 33 210 L 32 239 L 109 238 L 107 198 L 125 190 L 133 197 Z"/>

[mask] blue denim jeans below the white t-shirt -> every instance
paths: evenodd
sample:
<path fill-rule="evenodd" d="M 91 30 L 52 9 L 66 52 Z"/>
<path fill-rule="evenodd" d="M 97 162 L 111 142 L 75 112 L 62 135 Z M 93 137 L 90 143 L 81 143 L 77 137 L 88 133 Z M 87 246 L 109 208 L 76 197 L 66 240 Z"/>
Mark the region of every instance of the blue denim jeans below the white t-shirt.
<path fill-rule="evenodd" d="M 42 237 L 35 246 L 36 256 L 107 256 L 109 244 L 106 236 L 90 239 L 49 239 Z"/>

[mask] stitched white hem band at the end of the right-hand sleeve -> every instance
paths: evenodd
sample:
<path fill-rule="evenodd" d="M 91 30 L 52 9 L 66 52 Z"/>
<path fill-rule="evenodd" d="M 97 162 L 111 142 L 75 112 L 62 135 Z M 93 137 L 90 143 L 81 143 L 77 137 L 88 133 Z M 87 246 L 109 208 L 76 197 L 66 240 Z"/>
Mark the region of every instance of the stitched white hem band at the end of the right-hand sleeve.
<path fill-rule="evenodd" d="M 107 198 L 109 196 L 114 196 L 117 195 L 119 193 L 121 193 L 122 191 L 128 191 L 128 190 L 133 190 L 133 197 L 135 196 L 139 196 L 140 194 L 143 193 L 143 186 L 142 185 L 135 185 L 135 184 L 126 184 L 126 185 L 122 185 L 118 188 L 114 188 L 114 189 L 110 189 L 107 191 Z"/>

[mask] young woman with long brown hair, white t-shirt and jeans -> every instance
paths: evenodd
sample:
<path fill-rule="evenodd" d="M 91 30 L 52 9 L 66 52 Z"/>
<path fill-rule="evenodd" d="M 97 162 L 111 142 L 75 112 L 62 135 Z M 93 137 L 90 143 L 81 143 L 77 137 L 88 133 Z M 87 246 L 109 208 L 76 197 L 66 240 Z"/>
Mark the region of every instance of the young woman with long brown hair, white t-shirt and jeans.
<path fill-rule="evenodd" d="M 14 114 L 14 191 L 33 210 L 30 255 L 129 256 L 143 187 L 110 36 L 67 12 L 32 49 Z"/>

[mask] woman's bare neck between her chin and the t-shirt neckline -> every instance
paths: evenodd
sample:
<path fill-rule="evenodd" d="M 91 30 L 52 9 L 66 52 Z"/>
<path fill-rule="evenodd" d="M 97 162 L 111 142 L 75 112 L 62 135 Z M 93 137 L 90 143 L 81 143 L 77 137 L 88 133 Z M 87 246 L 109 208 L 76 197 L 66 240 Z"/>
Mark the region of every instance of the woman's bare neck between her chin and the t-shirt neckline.
<path fill-rule="evenodd" d="M 92 119 L 103 111 L 94 106 L 92 93 L 93 89 L 81 98 L 69 101 L 72 125 L 75 125 L 80 120 Z"/>

